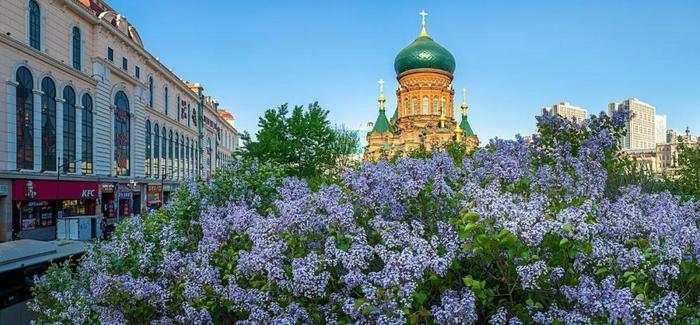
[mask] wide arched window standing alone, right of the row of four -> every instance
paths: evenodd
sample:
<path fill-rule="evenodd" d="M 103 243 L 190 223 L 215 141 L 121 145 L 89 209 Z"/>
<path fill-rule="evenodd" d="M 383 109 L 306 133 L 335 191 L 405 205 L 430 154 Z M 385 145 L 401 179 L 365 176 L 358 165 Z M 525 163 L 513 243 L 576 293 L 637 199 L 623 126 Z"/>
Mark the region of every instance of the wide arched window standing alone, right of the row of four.
<path fill-rule="evenodd" d="M 114 96 L 114 105 L 114 174 L 127 176 L 131 165 L 131 112 L 123 91 Z"/>

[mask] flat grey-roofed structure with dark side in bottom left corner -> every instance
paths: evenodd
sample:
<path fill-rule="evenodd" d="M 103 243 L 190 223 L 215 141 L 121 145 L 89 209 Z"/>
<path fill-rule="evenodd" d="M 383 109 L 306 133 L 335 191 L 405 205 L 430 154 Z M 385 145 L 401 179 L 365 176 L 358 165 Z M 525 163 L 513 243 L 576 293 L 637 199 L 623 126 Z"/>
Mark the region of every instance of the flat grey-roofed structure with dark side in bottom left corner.
<path fill-rule="evenodd" d="M 32 239 L 0 243 L 0 324 L 30 324 L 36 318 L 27 307 L 34 276 L 42 276 L 52 263 L 79 258 L 85 245 Z"/>

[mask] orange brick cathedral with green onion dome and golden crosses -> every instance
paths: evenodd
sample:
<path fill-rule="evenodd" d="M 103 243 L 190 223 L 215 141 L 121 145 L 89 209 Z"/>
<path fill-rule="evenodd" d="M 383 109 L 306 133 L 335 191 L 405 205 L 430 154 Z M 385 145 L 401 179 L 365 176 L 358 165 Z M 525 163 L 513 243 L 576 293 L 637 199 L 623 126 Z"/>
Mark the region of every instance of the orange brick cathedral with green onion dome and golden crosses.
<path fill-rule="evenodd" d="M 367 133 L 365 160 L 405 155 L 416 149 L 440 150 L 448 142 L 463 142 L 470 150 L 479 140 L 467 120 L 466 90 L 463 90 L 460 122 L 455 119 L 452 80 L 455 59 L 435 42 L 425 28 L 425 12 L 418 38 L 396 55 L 394 69 L 399 83 L 397 107 L 391 118 L 385 110 L 383 81 L 380 81 L 379 116 Z"/>

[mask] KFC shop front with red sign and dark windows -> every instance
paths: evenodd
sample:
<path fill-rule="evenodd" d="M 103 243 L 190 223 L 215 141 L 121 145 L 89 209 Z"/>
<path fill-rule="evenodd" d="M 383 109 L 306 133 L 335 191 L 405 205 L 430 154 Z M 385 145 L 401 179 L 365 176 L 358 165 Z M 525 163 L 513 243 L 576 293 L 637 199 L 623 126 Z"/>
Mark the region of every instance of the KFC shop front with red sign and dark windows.
<path fill-rule="evenodd" d="M 12 233 L 17 239 L 53 240 L 56 220 L 95 215 L 97 183 L 14 180 Z"/>

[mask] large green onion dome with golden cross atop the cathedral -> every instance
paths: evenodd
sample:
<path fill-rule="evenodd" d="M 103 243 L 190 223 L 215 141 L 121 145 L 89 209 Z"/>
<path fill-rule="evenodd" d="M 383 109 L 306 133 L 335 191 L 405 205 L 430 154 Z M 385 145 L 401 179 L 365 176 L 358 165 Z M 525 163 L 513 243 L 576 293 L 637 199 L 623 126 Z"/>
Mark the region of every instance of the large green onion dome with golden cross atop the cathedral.
<path fill-rule="evenodd" d="M 421 11 L 423 16 L 423 26 L 420 35 L 413 43 L 406 46 L 396 55 L 394 59 L 394 70 L 400 75 L 413 69 L 437 69 L 450 74 L 455 71 L 455 58 L 452 53 L 442 45 L 435 42 L 425 29 L 424 11 Z"/>

